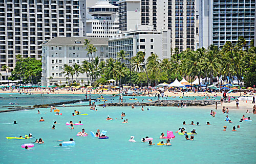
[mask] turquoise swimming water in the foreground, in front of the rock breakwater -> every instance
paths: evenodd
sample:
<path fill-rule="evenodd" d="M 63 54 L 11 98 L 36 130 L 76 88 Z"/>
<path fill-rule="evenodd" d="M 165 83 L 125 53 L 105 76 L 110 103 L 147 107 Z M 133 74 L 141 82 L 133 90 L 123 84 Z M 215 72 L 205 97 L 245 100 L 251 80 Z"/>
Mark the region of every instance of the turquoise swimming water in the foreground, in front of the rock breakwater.
<path fill-rule="evenodd" d="M 98 107 L 98 111 L 90 111 L 88 107 L 58 107 L 62 116 L 50 113 L 50 109 L 17 111 L 0 113 L 0 163 L 255 163 L 255 126 L 256 117 L 252 122 L 238 123 L 245 111 L 230 110 L 229 117 L 234 123 L 225 122 L 226 114 L 217 111 L 215 118 L 209 115 L 210 108 L 204 107 L 150 107 L 150 111 L 142 112 L 140 107 Z M 146 109 L 148 107 L 145 107 Z M 72 116 L 74 110 L 88 116 Z M 212 109 L 213 110 L 213 109 Z M 121 112 L 126 114 L 129 123 L 122 124 Z M 106 121 L 110 115 L 113 121 Z M 44 117 L 45 122 L 39 122 Z M 116 119 L 117 118 L 117 119 Z M 18 124 L 13 125 L 16 120 Z M 74 126 L 70 130 L 65 123 L 72 120 L 74 123 L 82 121 L 83 126 Z M 51 129 L 57 121 L 56 129 Z M 182 125 L 182 122 L 199 122 L 201 125 Z M 210 126 L 205 125 L 206 122 Z M 238 131 L 231 131 L 233 126 L 241 125 Z M 222 131 L 223 126 L 227 131 Z M 184 135 L 175 133 L 176 138 L 171 140 L 172 146 L 148 146 L 140 143 L 144 136 L 154 138 L 154 143 L 160 141 L 161 132 L 166 135 L 167 130 L 177 131 L 185 127 L 187 131 L 196 128 L 195 141 L 185 141 Z M 89 133 L 87 137 L 76 136 L 82 128 Z M 98 140 L 90 135 L 96 129 L 107 130 L 108 140 Z M 31 150 L 20 146 L 33 140 L 7 140 L 6 136 L 19 136 L 32 133 L 38 139 L 45 141 L 44 145 L 37 145 Z M 137 143 L 129 143 L 130 136 L 134 135 Z M 74 138 L 76 145 L 59 147 L 57 140 L 68 141 Z"/>

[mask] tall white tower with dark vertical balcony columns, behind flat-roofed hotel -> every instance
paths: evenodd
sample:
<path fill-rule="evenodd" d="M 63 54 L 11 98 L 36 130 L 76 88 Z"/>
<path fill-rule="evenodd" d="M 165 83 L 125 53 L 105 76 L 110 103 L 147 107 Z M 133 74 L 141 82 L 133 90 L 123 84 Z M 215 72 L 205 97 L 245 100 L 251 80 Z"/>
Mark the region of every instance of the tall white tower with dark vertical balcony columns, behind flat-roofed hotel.
<path fill-rule="evenodd" d="M 196 49 L 195 0 L 122 0 L 119 4 L 119 30 L 138 30 L 153 25 L 154 30 L 170 30 L 172 48 Z"/>

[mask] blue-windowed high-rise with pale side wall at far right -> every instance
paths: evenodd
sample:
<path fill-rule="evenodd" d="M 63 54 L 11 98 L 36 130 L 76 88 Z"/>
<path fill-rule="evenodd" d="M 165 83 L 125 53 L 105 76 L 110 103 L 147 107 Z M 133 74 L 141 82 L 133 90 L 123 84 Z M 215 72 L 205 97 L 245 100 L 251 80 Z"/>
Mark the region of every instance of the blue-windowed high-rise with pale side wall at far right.
<path fill-rule="evenodd" d="M 199 46 L 236 43 L 242 36 L 250 44 L 255 37 L 255 0 L 210 0 L 200 3 Z"/>

